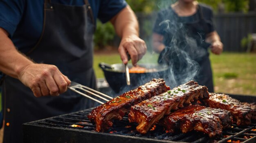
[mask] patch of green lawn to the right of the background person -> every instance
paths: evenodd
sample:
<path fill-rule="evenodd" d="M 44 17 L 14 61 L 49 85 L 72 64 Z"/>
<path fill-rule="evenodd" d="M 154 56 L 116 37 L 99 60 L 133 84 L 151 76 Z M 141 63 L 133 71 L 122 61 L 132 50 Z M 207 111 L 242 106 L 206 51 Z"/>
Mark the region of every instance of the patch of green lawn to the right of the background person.
<path fill-rule="evenodd" d="M 256 95 L 256 54 L 211 54 L 216 92 Z"/>

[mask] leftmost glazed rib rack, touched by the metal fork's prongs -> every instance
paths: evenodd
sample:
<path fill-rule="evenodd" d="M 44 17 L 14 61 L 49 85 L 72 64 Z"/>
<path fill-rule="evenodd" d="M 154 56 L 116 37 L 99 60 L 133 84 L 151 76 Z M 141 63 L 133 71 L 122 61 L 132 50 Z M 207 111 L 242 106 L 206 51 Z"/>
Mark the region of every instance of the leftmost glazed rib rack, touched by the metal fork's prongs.
<path fill-rule="evenodd" d="M 92 123 L 96 124 L 97 132 L 103 132 L 112 126 L 114 119 L 121 120 L 124 115 L 130 111 L 132 105 L 164 93 L 169 89 L 170 87 L 165 85 L 163 79 L 153 79 L 137 89 L 128 91 L 98 106 L 88 114 L 88 118 Z"/>

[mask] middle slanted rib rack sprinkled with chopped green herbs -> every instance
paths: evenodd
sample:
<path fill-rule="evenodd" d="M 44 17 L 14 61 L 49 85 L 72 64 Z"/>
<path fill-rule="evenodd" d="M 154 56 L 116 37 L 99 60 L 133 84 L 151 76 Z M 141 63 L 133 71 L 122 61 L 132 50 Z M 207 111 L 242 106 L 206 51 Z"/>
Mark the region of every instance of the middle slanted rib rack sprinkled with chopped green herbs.
<path fill-rule="evenodd" d="M 207 87 L 190 81 L 132 106 L 128 120 L 139 123 L 136 129 L 141 134 L 145 134 L 159 119 L 170 114 L 171 110 L 177 110 L 178 107 L 183 107 L 183 104 L 189 105 L 190 102 L 194 99 L 198 100 L 198 98 L 209 98 Z"/>

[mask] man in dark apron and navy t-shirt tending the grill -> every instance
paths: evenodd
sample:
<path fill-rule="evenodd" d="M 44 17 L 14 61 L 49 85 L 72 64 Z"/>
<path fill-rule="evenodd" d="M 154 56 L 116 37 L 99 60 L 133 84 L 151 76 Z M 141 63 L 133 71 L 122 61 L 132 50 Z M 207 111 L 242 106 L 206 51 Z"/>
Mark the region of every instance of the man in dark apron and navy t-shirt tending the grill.
<path fill-rule="evenodd" d="M 7 74 L 2 85 L 4 142 L 22 142 L 22 123 L 93 106 L 67 86 L 72 80 L 95 88 L 96 18 L 110 20 L 121 37 L 121 60 L 128 62 L 128 52 L 136 65 L 146 45 L 124 0 L 0 1 L 0 71 Z"/>

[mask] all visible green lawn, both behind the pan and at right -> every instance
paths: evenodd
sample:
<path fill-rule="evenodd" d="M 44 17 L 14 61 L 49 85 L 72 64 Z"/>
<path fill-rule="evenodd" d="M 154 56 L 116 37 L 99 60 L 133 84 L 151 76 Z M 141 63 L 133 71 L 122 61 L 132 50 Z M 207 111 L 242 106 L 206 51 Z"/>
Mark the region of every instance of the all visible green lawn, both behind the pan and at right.
<path fill-rule="evenodd" d="M 140 63 L 157 63 L 157 54 L 146 54 Z M 256 54 L 222 53 L 210 55 L 215 92 L 256 95 Z M 121 63 L 118 53 L 94 54 L 97 78 L 103 78 L 99 63 Z"/>

